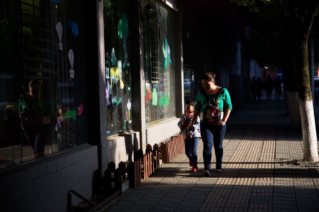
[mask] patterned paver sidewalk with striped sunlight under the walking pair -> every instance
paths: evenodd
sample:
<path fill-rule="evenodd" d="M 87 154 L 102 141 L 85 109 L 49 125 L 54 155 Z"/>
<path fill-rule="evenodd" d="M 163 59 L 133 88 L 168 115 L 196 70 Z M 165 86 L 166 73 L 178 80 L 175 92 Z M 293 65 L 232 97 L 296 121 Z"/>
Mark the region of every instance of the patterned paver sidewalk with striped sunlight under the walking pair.
<path fill-rule="evenodd" d="M 319 167 L 301 161 L 302 132 L 285 112 L 283 100 L 232 112 L 222 173 L 202 175 L 200 140 L 197 173 L 182 152 L 107 211 L 319 211 Z"/>

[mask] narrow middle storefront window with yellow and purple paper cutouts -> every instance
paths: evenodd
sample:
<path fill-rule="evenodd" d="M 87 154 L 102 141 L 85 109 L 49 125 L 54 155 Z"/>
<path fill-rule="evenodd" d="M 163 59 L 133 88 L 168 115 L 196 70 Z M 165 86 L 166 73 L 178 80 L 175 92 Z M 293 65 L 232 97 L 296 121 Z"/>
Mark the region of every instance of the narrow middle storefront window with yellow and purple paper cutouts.
<path fill-rule="evenodd" d="M 103 1 L 107 135 L 132 129 L 129 1 Z"/>

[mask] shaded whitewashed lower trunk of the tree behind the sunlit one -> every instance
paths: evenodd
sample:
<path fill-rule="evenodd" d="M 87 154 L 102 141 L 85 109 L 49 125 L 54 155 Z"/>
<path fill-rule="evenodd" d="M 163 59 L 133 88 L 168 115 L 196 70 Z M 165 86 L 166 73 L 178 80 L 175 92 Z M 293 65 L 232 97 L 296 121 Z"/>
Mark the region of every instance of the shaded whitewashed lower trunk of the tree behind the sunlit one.
<path fill-rule="evenodd" d="M 301 129 L 301 119 L 300 119 L 300 109 L 298 92 L 289 91 L 289 100 L 290 100 L 290 121 L 292 128 Z"/>

